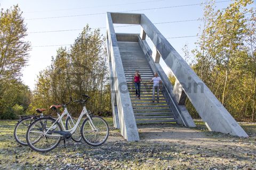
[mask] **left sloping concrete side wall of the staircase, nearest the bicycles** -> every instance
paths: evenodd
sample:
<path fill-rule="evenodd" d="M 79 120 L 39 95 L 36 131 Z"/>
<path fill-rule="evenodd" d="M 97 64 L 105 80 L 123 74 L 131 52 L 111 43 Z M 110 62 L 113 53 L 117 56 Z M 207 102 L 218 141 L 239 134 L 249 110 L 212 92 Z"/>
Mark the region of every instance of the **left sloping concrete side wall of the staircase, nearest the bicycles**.
<path fill-rule="evenodd" d="M 119 121 L 121 134 L 127 141 L 138 141 L 140 140 L 139 133 L 133 114 L 132 103 L 127 88 L 121 55 L 117 45 L 116 33 L 110 13 L 107 13 L 107 45 L 109 67 L 111 68 L 110 74 L 112 74 L 110 76 L 113 76 L 110 81 L 110 86 L 113 87 L 111 88 L 111 94 L 115 93 L 115 95 L 111 95 L 111 100 L 114 103 L 116 101 L 117 105 L 115 107 L 117 110 L 113 109 L 115 113 L 114 123 Z M 116 114 L 118 114 L 118 116 Z M 116 128 L 118 128 L 118 125 L 116 125 Z"/>

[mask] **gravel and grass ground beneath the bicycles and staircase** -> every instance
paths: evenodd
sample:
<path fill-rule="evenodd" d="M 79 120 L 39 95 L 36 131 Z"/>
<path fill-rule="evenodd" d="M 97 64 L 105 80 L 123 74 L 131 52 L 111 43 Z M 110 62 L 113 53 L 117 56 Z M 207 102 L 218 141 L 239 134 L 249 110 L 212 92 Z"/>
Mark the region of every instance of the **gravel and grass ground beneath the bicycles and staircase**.
<path fill-rule="evenodd" d="M 110 127 L 111 118 L 106 118 Z M 140 141 L 110 128 L 105 144 L 63 142 L 45 154 L 15 142 L 15 121 L 0 121 L 0 169 L 256 169 L 256 124 L 241 123 L 249 138 L 177 124 L 139 125 Z"/>

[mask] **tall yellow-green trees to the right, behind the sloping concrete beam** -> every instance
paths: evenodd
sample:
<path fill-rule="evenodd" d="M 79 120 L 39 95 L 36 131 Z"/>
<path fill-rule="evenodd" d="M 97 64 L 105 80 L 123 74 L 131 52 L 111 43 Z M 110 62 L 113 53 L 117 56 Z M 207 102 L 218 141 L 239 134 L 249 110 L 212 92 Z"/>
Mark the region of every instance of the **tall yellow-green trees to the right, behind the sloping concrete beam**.
<path fill-rule="evenodd" d="M 255 121 L 256 20 L 250 0 L 236 0 L 227 8 L 205 6 L 202 36 L 193 50 L 195 72 L 237 120 Z M 249 14 L 249 15 L 248 15 Z M 248 15 L 248 16 L 247 16 Z M 187 103 L 188 111 L 196 115 Z"/>

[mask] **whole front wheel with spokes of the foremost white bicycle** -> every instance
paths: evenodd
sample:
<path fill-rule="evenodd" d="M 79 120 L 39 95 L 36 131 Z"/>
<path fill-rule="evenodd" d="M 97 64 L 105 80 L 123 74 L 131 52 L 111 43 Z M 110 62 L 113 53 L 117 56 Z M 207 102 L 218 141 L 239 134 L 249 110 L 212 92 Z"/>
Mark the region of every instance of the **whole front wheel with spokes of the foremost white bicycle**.
<path fill-rule="evenodd" d="M 81 127 L 82 137 L 88 145 L 100 146 L 108 139 L 108 124 L 98 116 L 91 116 L 91 120 L 88 117 L 84 120 Z"/>

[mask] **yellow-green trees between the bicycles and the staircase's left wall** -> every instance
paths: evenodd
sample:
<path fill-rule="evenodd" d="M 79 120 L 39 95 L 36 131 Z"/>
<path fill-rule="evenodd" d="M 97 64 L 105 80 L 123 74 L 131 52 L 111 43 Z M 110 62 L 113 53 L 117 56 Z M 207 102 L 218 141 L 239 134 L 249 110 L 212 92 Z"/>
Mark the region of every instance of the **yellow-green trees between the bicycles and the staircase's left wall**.
<path fill-rule="evenodd" d="M 100 30 L 92 31 L 86 25 L 70 49 L 59 48 L 51 66 L 39 73 L 30 112 L 36 107 L 49 108 L 53 104 L 67 103 L 70 96 L 80 99 L 87 94 L 91 99 L 86 107 L 92 113 L 109 115 L 111 105 L 106 60 L 105 39 Z M 82 111 L 80 105 L 71 103 L 69 106 L 74 115 Z"/>

